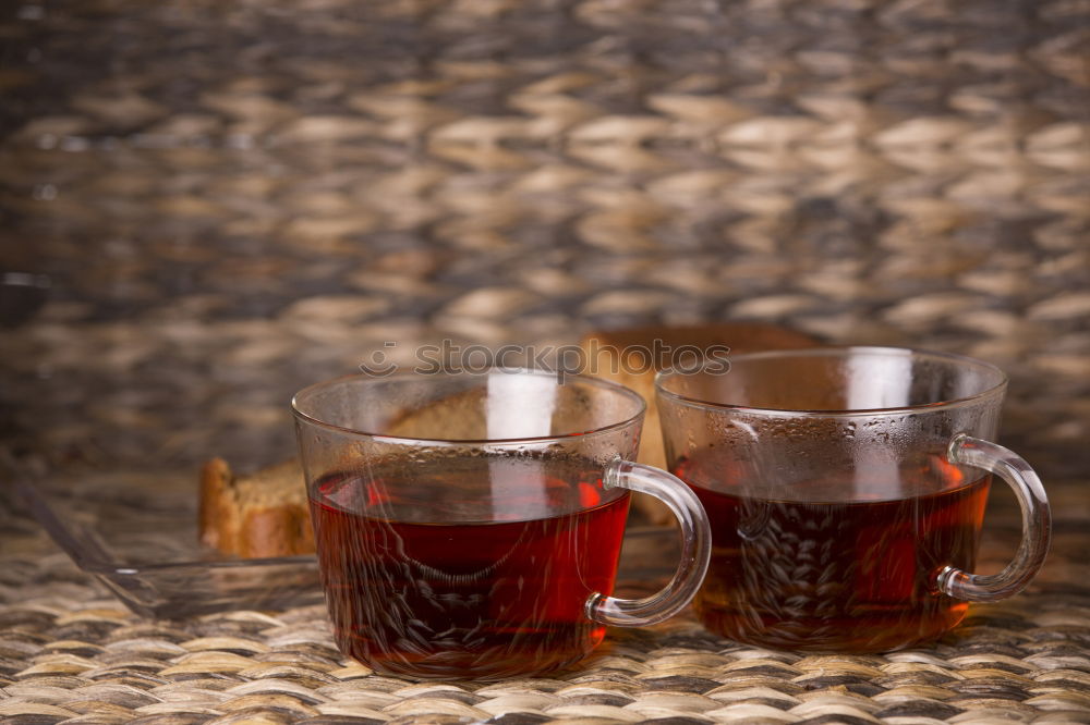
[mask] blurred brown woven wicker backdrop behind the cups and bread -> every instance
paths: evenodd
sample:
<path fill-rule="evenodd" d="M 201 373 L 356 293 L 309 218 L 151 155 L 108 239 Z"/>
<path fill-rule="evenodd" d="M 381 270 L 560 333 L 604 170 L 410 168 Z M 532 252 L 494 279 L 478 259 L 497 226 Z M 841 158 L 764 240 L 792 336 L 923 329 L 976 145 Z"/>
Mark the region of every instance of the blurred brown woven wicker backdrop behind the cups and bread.
<path fill-rule="evenodd" d="M 13 8 L 0 262 L 56 284 L 9 365 L 134 395 L 169 355 L 240 384 L 230 360 L 325 369 L 307 345 L 343 369 L 386 340 L 750 318 L 992 359 L 1017 428 L 1076 440 L 1088 23 L 1071 0 Z"/>

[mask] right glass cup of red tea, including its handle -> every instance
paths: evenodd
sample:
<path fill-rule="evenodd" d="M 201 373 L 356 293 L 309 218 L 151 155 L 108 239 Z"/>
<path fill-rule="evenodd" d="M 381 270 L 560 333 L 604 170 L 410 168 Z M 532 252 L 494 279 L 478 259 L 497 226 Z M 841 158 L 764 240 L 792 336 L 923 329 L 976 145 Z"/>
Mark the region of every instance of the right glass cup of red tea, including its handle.
<path fill-rule="evenodd" d="M 756 353 L 658 376 L 669 468 L 712 523 L 693 607 L 765 647 L 882 652 L 1020 591 L 1049 550 L 1037 475 L 992 443 L 1006 389 L 966 357 L 883 347 Z M 1022 509 L 1015 561 L 976 566 L 992 477 Z"/>

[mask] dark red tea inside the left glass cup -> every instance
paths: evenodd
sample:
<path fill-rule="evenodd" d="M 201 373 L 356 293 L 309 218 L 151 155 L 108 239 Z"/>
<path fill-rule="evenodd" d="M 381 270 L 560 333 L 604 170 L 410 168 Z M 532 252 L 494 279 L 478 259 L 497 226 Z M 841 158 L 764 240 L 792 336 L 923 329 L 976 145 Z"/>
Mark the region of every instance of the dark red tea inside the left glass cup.
<path fill-rule="evenodd" d="M 392 462 L 311 491 L 341 650 L 377 669 L 496 678 L 588 654 L 628 514 L 586 460 Z"/>

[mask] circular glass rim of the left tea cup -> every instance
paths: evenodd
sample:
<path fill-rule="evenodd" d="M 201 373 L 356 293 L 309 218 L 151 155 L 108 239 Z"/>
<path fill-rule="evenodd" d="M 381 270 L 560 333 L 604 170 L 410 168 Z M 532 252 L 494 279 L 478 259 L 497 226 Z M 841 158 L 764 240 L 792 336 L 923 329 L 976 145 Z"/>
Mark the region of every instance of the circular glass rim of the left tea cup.
<path fill-rule="evenodd" d="M 643 396 L 635 391 L 629 390 L 623 385 L 619 385 L 615 382 L 608 380 L 602 380 L 601 378 L 592 378 L 591 376 L 581 373 L 565 373 L 564 378 L 559 379 L 558 384 L 565 385 L 569 380 L 578 381 L 580 383 L 589 384 L 593 388 L 598 388 L 602 390 L 608 390 L 613 393 L 619 394 L 629 401 L 635 403 L 635 413 L 632 415 L 618 420 L 616 422 L 610 422 L 605 426 L 598 426 L 597 428 L 591 428 L 589 430 L 573 430 L 568 433 L 562 433 L 560 435 L 529 435 L 522 438 L 480 438 L 480 439 L 469 439 L 469 438 L 415 438 L 411 435 L 389 435 L 387 433 L 375 433 L 365 430 L 359 430 L 356 428 L 349 428 L 347 426 L 338 426 L 336 423 L 327 422 L 315 418 L 312 415 L 303 413 L 299 408 L 299 401 L 301 396 L 316 391 L 322 388 L 328 388 L 338 383 L 348 382 L 351 380 L 370 381 L 374 383 L 389 383 L 389 382 L 420 382 L 422 380 L 431 379 L 450 379 L 450 378 L 487 378 L 493 373 L 498 374 L 516 374 L 516 376 L 535 376 L 542 378 L 553 378 L 557 379 L 557 373 L 555 371 L 548 370 L 537 370 L 534 368 L 505 368 L 505 367 L 491 367 L 484 370 L 460 370 L 460 369 L 449 369 L 443 370 L 441 372 L 422 374 L 419 372 L 395 372 L 383 378 L 375 378 L 368 376 L 367 373 L 358 372 L 347 376 L 340 376 L 338 378 L 330 378 L 329 380 L 323 380 L 322 382 L 316 382 L 303 388 L 291 396 L 291 411 L 295 418 L 303 420 L 310 425 L 317 426 L 318 428 L 324 428 L 326 430 L 336 431 L 338 433 L 346 433 L 349 435 L 358 435 L 360 438 L 368 438 L 380 441 L 390 442 L 404 442 L 404 443 L 426 443 L 427 445 L 441 446 L 464 446 L 464 445 L 512 445 L 521 443 L 548 443 L 552 441 L 567 441 L 572 438 L 585 438 L 588 435 L 602 435 L 605 433 L 610 433 L 613 431 L 619 430 L 627 426 L 631 426 L 633 422 L 638 421 L 646 413 L 647 403 L 643 400 Z"/>

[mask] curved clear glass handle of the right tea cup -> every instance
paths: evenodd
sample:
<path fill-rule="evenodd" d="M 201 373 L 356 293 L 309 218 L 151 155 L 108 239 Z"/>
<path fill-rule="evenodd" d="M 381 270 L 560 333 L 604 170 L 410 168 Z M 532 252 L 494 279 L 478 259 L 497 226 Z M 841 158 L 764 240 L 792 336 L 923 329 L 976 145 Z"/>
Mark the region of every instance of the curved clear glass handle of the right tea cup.
<path fill-rule="evenodd" d="M 1052 539 L 1052 512 L 1041 479 L 1017 454 L 965 433 L 950 440 L 946 457 L 953 464 L 995 474 L 1014 489 L 1021 506 L 1022 540 L 1014 561 L 998 574 L 969 574 L 947 566 L 938 573 L 938 590 L 971 602 L 994 602 L 1017 594 L 1044 564 Z"/>

